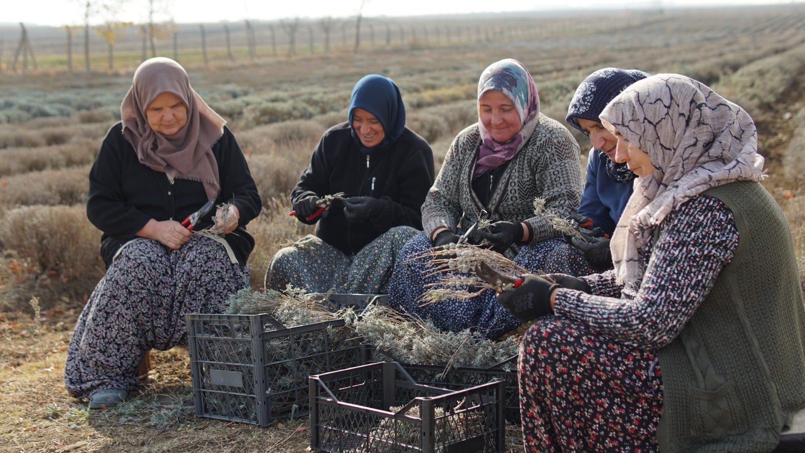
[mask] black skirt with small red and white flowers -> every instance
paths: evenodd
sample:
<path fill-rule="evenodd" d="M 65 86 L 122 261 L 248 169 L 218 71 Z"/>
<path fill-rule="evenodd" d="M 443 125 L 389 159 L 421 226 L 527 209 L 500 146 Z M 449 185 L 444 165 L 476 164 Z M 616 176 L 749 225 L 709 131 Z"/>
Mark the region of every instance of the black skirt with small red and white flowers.
<path fill-rule="evenodd" d="M 658 451 L 663 383 L 653 351 L 548 316 L 522 339 L 519 380 L 526 451 Z"/>

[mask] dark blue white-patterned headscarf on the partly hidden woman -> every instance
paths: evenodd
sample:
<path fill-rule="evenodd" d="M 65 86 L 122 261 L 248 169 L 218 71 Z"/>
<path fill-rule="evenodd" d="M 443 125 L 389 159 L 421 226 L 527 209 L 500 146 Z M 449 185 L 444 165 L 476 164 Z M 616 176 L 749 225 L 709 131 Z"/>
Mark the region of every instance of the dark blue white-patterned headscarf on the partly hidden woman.
<path fill-rule="evenodd" d="M 589 135 L 579 125 L 579 119 L 588 119 L 601 123 L 601 119 L 598 116 L 601 114 L 601 110 L 604 110 L 604 107 L 609 104 L 609 101 L 621 94 L 621 91 L 626 89 L 627 86 L 646 77 L 649 77 L 649 74 L 637 69 L 598 69 L 595 73 L 587 76 L 581 82 L 579 88 L 576 88 L 576 94 L 573 94 L 565 121 L 583 132 L 584 135 Z M 634 179 L 634 173 L 626 167 L 625 163 L 617 164 L 603 152 L 599 157 L 606 164 L 606 172 L 613 181 L 626 183 Z"/>

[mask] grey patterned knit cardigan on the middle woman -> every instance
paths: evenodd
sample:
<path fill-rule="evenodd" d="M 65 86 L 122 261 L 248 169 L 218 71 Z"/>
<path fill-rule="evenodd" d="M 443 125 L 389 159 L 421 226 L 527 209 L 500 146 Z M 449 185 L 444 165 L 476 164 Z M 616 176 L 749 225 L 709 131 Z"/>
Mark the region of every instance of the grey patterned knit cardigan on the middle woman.
<path fill-rule="evenodd" d="M 546 210 L 561 217 L 579 207 L 583 189 L 580 150 L 568 129 L 539 114 L 537 127 L 503 172 L 489 197 L 489 206 L 481 204 L 472 188 L 480 146 L 477 123 L 456 135 L 422 205 L 425 233 L 430 235 L 439 226 L 449 226 L 452 231 L 459 224 L 469 227 L 485 209 L 493 222 L 530 223 L 534 228 L 532 242 L 557 236 L 544 218 L 535 217 L 533 203 L 535 197 L 543 197 Z"/>

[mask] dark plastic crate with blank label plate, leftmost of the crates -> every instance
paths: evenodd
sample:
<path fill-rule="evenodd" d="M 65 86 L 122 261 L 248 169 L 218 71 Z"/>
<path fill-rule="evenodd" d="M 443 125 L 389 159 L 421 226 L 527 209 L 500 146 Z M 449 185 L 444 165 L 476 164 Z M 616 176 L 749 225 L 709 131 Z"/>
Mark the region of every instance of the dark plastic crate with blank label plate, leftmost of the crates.
<path fill-rule="evenodd" d="M 308 376 L 361 364 L 343 319 L 286 327 L 268 314 L 186 314 L 196 417 L 269 425 L 307 415 Z"/>

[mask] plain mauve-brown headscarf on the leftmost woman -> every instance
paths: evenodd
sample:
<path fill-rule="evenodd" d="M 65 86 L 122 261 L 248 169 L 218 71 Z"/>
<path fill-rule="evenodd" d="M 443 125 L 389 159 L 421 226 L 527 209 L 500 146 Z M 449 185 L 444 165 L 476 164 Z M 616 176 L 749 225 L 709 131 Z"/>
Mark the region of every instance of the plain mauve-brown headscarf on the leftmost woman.
<path fill-rule="evenodd" d="M 151 131 L 146 109 L 163 93 L 178 96 L 188 108 L 187 123 L 174 135 Z M 190 86 L 188 73 L 170 58 L 151 58 L 134 73 L 126 98 L 120 106 L 123 135 L 129 140 L 140 163 L 170 177 L 201 181 L 208 199 L 221 189 L 213 144 L 224 134 L 226 121 Z"/>

